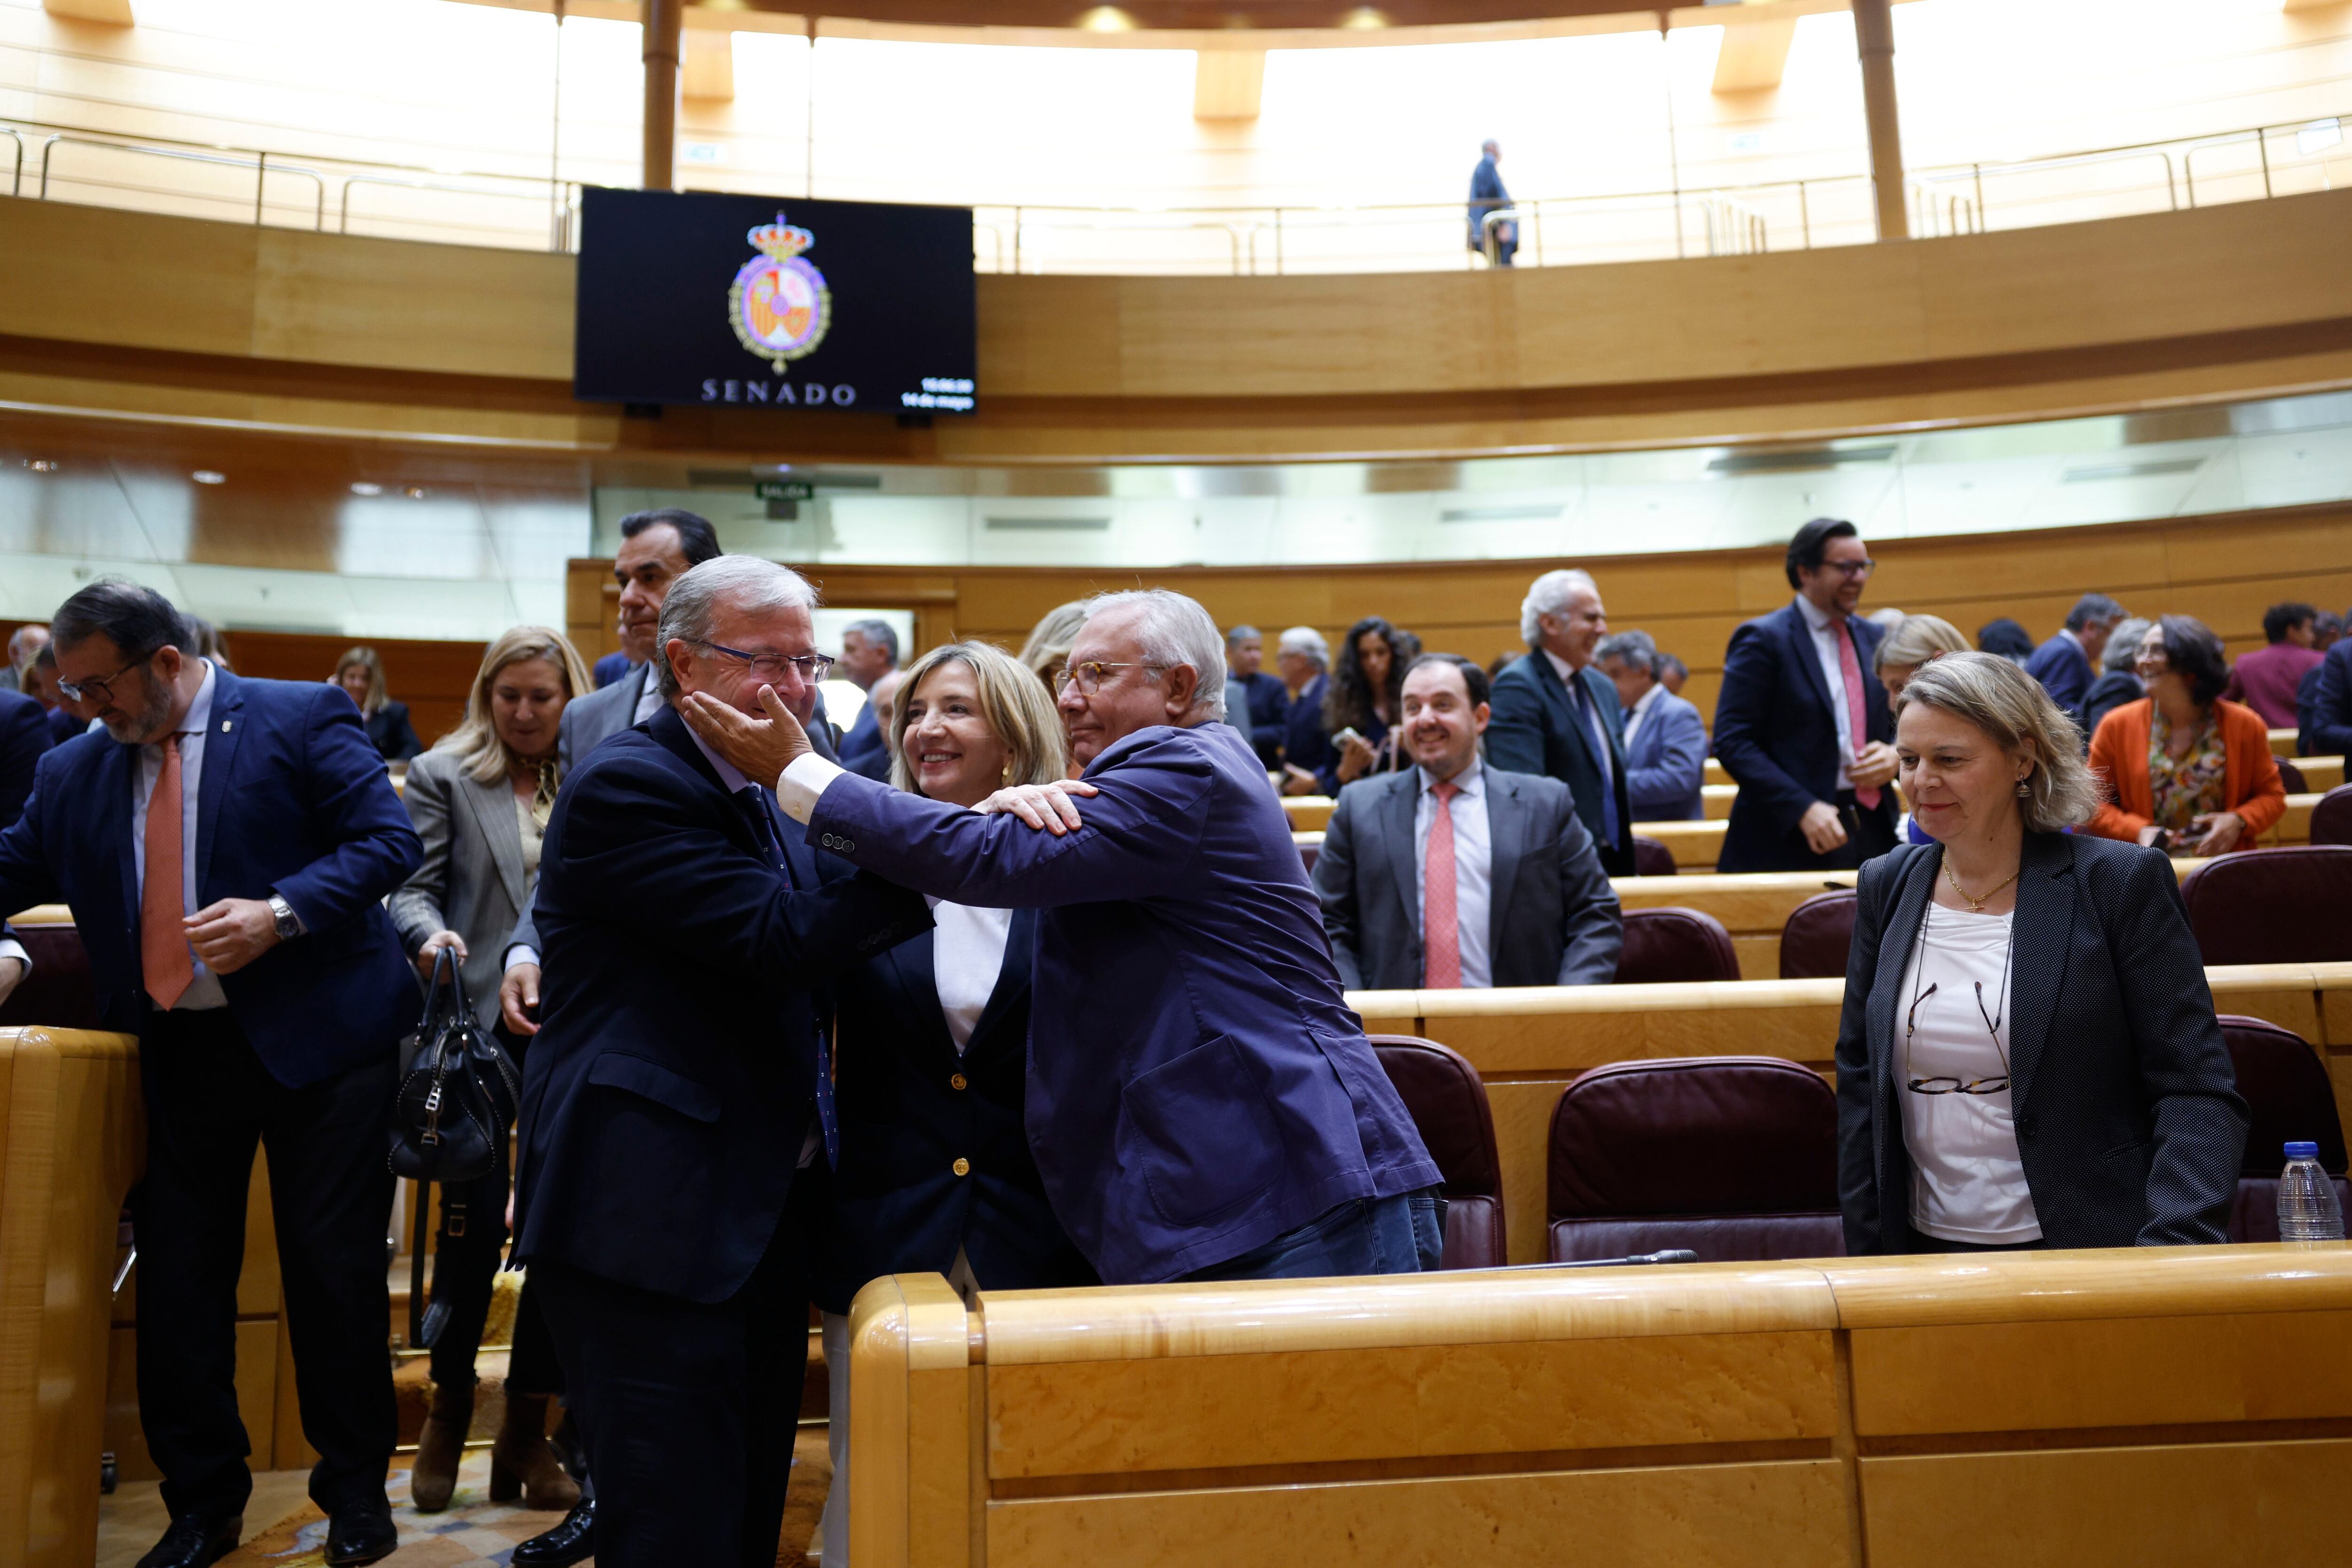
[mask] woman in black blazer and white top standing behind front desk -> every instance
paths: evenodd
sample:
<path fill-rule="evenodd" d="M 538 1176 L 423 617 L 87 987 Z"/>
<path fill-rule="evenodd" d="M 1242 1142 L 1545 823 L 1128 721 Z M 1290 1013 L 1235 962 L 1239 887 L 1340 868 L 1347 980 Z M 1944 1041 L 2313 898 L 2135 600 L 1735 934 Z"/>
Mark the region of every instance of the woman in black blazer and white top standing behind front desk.
<path fill-rule="evenodd" d="M 2082 738 L 2018 665 L 1903 689 L 1933 844 L 1863 865 L 1837 1030 L 1849 1253 L 2220 1241 L 2246 1105 L 2173 867 L 2065 832 Z"/>

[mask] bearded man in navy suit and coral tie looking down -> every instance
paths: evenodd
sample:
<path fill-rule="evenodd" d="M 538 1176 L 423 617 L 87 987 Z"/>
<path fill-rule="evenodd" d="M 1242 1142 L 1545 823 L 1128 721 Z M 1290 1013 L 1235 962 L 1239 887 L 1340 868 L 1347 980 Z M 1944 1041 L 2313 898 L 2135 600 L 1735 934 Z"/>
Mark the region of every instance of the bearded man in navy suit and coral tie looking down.
<path fill-rule="evenodd" d="M 139 1037 L 139 1422 L 172 1512 L 141 1566 L 212 1563 L 252 1493 L 235 1319 L 256 1143 L 327 1561 L 372 1563 L 395 1544 L 383 1128 L 416 1018 L 381 900 L 423 846 L 339 686 L 240 679 L 122 578 L 52 630 L 106 733 L 42 759 L 0 832 L 0 907 L 71 903 L 106 1027 Z"/>

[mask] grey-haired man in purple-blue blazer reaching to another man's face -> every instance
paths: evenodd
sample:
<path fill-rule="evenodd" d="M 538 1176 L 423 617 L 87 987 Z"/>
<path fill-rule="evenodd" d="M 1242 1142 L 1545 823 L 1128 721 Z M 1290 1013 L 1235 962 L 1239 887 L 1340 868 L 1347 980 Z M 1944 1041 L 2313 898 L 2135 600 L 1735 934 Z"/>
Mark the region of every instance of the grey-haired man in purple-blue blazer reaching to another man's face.
<path fill-rule="evenodd" d="M 1209 611 L 1094 599 L 1061 686 L 1082 783 L 983 811 L 844 773 L 764 705 L 764 724 L 687 717 L 781 776 L 811 844 L 934 898 L 1040 910 L 1030 1150 L 1105 1284 L 1437 1267 L 1437 1166 L 1348 1011 L 1265 766 L 1218 722 Z"/>

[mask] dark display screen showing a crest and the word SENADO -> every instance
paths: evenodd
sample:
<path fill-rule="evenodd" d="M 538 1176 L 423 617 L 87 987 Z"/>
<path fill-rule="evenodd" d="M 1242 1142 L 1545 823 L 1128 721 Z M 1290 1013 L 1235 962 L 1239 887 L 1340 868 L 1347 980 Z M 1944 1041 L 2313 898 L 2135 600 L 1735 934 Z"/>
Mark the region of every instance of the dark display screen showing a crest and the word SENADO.
<path fill-rule="evenodd" d="M 583 402 L 969 414 L 971 209 L 581 195 Z"/>

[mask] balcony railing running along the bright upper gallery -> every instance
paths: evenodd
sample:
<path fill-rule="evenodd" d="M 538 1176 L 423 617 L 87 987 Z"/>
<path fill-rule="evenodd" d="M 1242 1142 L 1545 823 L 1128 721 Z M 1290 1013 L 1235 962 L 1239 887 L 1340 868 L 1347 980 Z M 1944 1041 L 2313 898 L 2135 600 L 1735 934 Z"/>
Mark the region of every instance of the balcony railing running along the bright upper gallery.
<path fill-rule="evenodd" d="M 310 158 L 122 136 L 28 120 L 9 139 L 12 195 L 395 240 L 569 252 L 579 181 Z M 2352 181 L 2338 118 L 2122 148 L 1912 169 L 1915 237 L 2034 228 L 2331 190 Z M 1479 221 L 1479 216 L 1498 221 Z M 1515 226 L 1517 266 L 1748 256 L 1877 237 L 1867 174 L 1748 186 L 1468 202 L 1272 207 L 974 207 L 983 273 L 1423 273 L 1494 266 L 1489 230 Z"/>

